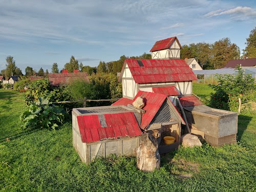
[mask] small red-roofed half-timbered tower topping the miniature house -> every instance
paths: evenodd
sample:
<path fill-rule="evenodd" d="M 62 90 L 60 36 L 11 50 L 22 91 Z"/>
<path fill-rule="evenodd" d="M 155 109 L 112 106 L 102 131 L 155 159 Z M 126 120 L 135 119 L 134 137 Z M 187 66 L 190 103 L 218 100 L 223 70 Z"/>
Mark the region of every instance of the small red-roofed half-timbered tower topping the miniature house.
<path fill-rule="evenodd" d="M 156 41 L 150 52 L 152 52 L 152 59 L 180 59 L 181 49 L 178 38 L 170 37 Z"/>

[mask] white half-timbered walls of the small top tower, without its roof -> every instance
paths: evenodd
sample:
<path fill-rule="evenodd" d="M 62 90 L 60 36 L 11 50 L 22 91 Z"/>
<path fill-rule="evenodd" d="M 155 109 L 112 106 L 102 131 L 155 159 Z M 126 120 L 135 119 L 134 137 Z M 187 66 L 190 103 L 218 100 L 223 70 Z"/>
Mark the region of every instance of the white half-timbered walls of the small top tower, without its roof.
<path fill-rule="evenodd" d="M 169 49 L 152 52 L 152 59 L 180 59 L 180 46 L 177 39 L 174 40 Z"/>

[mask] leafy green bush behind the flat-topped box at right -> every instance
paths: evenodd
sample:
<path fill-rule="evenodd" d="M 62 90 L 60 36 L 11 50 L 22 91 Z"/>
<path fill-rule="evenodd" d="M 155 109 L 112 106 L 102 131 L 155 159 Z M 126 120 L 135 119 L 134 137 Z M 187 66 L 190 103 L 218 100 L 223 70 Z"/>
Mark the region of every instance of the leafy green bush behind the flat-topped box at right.
<path fill-rule="evenodd" d="M 216 109 L 238 111 L 239 98 L 242 103 L 255 100 L 254 79 L 237 68 L 238 75 L 217 75 L 218 84 L 209 84 L 216 93 L 211 94 L 210 106 Z"/>

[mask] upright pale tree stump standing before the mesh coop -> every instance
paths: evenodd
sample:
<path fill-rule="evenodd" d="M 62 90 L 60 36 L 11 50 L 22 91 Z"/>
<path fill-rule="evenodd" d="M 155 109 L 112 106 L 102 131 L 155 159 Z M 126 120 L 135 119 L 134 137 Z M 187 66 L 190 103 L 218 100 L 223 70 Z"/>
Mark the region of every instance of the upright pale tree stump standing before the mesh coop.
<path fill-rule="evenodd" d="M 141 140 L 137 149 L 137 168 L 145 172 L 153 172 L 160 167 L 157 139 L 152 134 L 145 133 Z"/>

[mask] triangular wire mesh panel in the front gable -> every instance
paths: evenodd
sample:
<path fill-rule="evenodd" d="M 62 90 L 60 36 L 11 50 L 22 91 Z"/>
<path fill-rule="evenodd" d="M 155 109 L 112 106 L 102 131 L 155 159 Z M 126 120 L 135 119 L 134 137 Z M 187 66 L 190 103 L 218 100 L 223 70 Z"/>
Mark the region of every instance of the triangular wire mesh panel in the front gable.
<path fill-rule="evenodd" d="M 154 123 L 165 123 L 165 122 L 179 122 L 180 119 L 177 116 L 170 104 L 167 102 L 167 99 L 163 102 L 162 106 L 158 110 L 157 114 L 151 121 L 151 124 Z"/>

